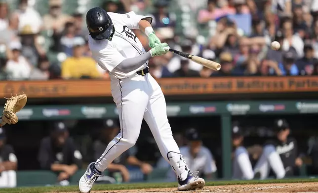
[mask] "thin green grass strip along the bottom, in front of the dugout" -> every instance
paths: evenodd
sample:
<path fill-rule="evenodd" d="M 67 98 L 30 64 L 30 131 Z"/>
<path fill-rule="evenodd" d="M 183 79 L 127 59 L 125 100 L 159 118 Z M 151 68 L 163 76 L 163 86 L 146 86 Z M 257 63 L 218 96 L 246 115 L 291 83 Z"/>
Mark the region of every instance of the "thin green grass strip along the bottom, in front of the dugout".
<path fill-rule="evenodd" d="M 207 182 L 206 186 L 224 186 L 224 185 L 244 185 L 244 184 L 270 184 L 270 183 L 302 183 L 318 182 L 314 179 L 281 179 L 281 180 L 251 180 L 251 181 L 212 181 Z M 173 188 L 177 187 L 176 183 L 137 183 L 137 184 L 105 184 L 95 185 L 93 191 L 111 191 L 111 190 L 131 190 L 131 189 L 148 189 L 148 188 Z M 77 192 L 78 186 L 68 187 L 25 187 L 13 189 L 0 189 L 0 193 L 58 193 L 58 192 Z"/>

